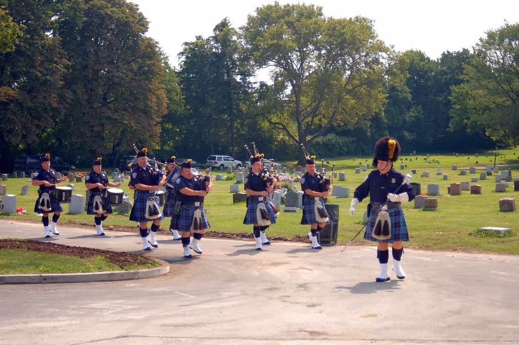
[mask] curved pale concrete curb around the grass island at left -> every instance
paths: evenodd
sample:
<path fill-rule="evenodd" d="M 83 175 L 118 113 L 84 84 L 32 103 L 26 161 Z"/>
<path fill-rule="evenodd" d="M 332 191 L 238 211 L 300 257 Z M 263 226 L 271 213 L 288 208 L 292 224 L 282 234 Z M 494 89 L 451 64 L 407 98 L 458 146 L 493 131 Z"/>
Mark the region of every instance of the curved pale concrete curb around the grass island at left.
<path fill-rule="evenodd" d="M 166 261 L 158 260 L 159 267 L 135 270 L 135 271 L 114 271 L 114 272 L 93 272 L 93 273 L 61 273 L 61 274 L 0 274 L 1 284 L 48 284 L 48 283 L 87 283 L 87 282 L 106 282 L 116 280 L 145 279 L 158 277 L 169 272 L 169 264 Z"/>

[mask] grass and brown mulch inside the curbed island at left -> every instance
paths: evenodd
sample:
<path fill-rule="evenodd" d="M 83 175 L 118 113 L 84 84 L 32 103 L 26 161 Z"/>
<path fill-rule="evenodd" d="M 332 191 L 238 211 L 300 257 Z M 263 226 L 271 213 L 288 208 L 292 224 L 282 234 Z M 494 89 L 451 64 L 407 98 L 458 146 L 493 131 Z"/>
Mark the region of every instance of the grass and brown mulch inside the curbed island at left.
<path fill-rule="evenodd" d="M 0 274 L 86 273 L 152 268 L 142 256 L 31 240 L 0 239 Z"/>

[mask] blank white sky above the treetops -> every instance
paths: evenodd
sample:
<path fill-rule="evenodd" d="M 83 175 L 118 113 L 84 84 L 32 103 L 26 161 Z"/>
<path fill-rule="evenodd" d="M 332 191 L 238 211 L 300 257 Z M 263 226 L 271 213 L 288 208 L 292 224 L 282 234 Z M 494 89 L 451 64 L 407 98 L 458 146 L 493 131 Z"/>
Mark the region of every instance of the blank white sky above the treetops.
<path fill-rule="evenodd" d="M 228 17 L 234 27 L 247 22 L 255 9 L 274 1 L 221 0 L 174 1 L 129 0 L 139 5 L 149 21 L 147 36 L 159 42 L 171 65 L 178 67 L 177 54 L 184 42 L 197 35 L 207 38 L 214 26 Z M 280 4 L 297 3 L 279 1 Z M 398 51 L 417 49 L 437 59 L 444 51 L 472 46 L 485 31 L 519 22 L 519 1 L 307 1 L 323 7 L 324 15 L 334 18 L 364 16 L 375 21 L 375 30 L 387 45 Z"/>

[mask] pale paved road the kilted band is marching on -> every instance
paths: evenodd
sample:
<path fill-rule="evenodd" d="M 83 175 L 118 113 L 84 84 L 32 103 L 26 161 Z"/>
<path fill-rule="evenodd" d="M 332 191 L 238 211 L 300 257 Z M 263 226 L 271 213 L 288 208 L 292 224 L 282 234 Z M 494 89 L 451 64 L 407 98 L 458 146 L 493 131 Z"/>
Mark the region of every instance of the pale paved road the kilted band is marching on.
<path fill-rule="evenodd" d="M 51 241 L 140 248 L 136 234 L 63 228 Z M 0 220 L 0 237 L 39 224 Z M 0 285 L 0 344 L 517 344 L 519 257 L 406 250 L 405 281 L 375 283 L 374 247 L 203 239 L 181 258 L 159 236 L 165 276 L 127 282 Z M 394 275 L 392 275 L 392 278 Z"/>

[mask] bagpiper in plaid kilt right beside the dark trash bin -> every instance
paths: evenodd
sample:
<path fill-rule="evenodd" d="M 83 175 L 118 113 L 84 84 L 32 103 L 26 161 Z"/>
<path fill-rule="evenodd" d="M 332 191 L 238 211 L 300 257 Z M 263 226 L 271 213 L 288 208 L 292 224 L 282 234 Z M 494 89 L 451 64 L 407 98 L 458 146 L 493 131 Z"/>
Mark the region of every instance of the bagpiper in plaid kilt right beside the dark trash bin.
<path fill-rule="evenodd" d="M 302 147 L 306 156 L 306 172 L 301 177 L 301 189 L 304 192 L 301 224 L 310 224 L 308 238 L 312 242 L 312 249 L 322 249 L 317 241 L 317 233 L 321 231 L 327 223 L 332 223 L 322 200 L 322 198 L 328 196 L 330 187 L 321 191 L 322 188 L 320 184 L 323 183 L 323 177 L 316 173 L 316 156 L 309 157 L 304 146 Z"/>

